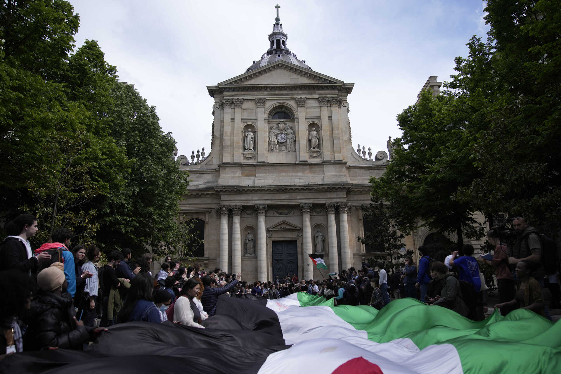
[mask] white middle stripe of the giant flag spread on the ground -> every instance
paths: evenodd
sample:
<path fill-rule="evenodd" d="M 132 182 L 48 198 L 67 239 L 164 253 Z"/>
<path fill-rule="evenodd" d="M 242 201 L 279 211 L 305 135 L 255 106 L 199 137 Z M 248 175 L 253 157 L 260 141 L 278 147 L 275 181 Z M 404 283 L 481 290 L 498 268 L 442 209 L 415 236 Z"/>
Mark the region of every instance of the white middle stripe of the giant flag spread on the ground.
<path fill-rule="evenodd" d="M 410 339 L 375 343 L 324 306 L 302 308 L 297 294 L 270 300 L 277 312 L 286 344 L 291 348 L 270 354 L 260 373 L 330 373 L 341 364 L 363 357 L 385 373 L 463 373 L 456 348 L 431 345 L 419 350 Z"/>

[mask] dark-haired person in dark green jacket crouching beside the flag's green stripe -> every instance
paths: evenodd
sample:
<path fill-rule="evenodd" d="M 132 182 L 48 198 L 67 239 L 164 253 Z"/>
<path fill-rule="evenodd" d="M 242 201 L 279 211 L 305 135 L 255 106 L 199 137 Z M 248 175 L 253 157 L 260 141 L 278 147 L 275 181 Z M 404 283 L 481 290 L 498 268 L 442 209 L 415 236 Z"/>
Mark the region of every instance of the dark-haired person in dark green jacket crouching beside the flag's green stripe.
<path fill-rule="evenodd" d="M 453 274 L 448 273 L 448 266 L 443 262 L 435 262 L 431 269 L 434 280 L 444 279 L 444 287 L 435 298 L 429 298 L 429 305 L 438 305 L 453 310 L 462 316 L 467 316 L 469 310 L 461 298 L 459 281 Z"/>

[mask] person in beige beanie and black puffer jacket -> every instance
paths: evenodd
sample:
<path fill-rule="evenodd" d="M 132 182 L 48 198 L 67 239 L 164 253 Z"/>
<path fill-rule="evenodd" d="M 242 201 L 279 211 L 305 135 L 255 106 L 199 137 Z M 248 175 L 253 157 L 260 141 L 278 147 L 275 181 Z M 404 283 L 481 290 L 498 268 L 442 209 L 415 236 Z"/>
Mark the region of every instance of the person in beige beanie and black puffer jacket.
<path fill-rule="evenodd" d="M 84 343 L 95 339 L 107 329 L 84 326 L 76 319 L 70 293 L 66 292 L 67 280 L 64 265 L 55 262 L 37 275 L 39 296 L 31 302 L 26 318 L 24 350 L 53 348 L 82 349 Z"/>

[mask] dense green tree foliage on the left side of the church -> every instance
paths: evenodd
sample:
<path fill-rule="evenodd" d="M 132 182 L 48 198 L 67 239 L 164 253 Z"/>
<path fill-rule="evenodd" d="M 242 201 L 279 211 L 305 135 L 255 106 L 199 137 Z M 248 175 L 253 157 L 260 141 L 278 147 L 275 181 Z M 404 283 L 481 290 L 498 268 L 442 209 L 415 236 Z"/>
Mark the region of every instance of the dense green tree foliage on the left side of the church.
<path fill-rule="evenodd" d="M 107 249 L 172 236 L 188 173 L 155 108 L 118 82 L 96 41 L 72 53 L 70 3 L 4 0 L 0 18 L 3 214 L 38 214 L 38 241 L 60 226 Z"/>

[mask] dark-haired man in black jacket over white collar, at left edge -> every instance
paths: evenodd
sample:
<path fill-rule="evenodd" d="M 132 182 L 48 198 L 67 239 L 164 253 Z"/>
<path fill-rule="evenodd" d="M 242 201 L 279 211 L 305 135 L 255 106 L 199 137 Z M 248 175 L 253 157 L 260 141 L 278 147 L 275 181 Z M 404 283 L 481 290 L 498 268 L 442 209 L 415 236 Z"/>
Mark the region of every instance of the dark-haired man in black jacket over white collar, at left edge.
<path fill-rule="evenodd" d="M 8 236 L 2 242 L 0 270 L 17 269 L 31 275 L 39 269 L 39 264 L 50 260 L 48 253 L 31 251 L 29 238 L 37 233 L 37 219 L 31 214 L 20 214 L 6 225 Z"/>

